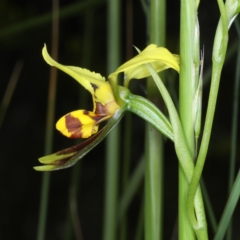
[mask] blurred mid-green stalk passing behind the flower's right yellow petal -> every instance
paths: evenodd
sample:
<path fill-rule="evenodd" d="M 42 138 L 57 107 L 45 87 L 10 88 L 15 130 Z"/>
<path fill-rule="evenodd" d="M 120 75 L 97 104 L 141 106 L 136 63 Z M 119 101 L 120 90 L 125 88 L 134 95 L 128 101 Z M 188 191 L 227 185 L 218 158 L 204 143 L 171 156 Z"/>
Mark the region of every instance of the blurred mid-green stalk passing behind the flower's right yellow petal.
<path fill-rule="evenodd" d="M 165 44 L 165 0 L 150 2 L 150 42 Z M 159 92 L 151 78 L 147 83 L 148 98 L 161 107 Z M 157 99 L 157 100 L 156 100 Z M 154 127 L 146 125 L 145 151 L 145 239 L 163 237 L 163 138 Z"/>

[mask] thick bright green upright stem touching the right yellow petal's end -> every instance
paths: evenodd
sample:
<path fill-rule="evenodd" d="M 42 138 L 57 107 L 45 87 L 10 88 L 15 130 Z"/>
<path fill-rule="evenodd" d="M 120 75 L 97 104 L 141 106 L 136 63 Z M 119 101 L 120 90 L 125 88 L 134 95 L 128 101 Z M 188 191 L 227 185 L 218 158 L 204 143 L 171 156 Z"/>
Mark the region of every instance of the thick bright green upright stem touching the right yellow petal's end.
<path fill-rule="evenodd" d="M 196 22 L 195 1 L 181 1 L 180 15 L 180 92 L 179 92 L 179 110 L 182 127 L 188 144 L 192 159 L 194 156 L 194 134 L 192 122 L 192 102 L 194 97 L 193 80 L 194 77 L 194 23 Z M 195 239 L 193 229 L 190 225 L 186 201 L 189 184 L 179 166 L 179 240 Z"/>

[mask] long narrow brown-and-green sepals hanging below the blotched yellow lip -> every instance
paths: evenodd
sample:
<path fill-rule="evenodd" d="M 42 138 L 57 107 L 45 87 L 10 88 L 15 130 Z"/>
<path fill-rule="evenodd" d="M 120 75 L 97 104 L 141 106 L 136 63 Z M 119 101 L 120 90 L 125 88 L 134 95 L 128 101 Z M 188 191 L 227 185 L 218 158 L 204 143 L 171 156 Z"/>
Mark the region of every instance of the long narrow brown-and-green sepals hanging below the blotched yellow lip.
<path fill-rule="evenodd" d="M 37 171 L 54 171 L 71 167 L 108 135 L 108 133 L 121 120 L 125 110 L 125 108 L 117 110 L 115 114 L 111 117 L 111 119 L 108 121 L 106 126 L 86 141 L 76 146 L 39 158 L 39 161 L 45 165 L 34 167 L 34 169 Z"/>

